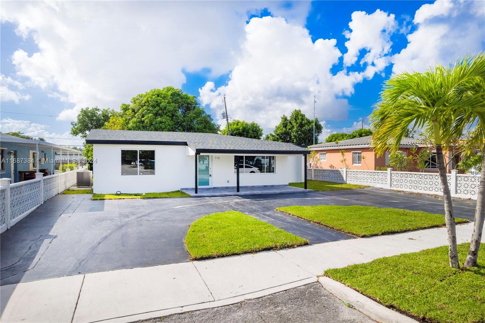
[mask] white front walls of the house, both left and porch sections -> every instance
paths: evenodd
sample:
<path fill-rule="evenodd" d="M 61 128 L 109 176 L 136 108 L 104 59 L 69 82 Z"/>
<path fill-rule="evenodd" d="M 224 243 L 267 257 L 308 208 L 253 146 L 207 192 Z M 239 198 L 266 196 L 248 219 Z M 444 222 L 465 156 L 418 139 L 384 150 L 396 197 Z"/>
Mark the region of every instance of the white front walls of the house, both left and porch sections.
<path fill-rule="evenodd" d="M 125 149 L 155 150 L 155 175 L 122 176 L 121 150 Z M 94 193 L 151 193 L 193 188 L 194 155 L 190 153 L 186 146 L 95 144 Z M 236 186 L 234 155 L 210 156 L 212 187 Z M 303 155 L 275 155 L 275 159 L 274 174 L 240 174 L 239 185 L 287 185 L 289 182 L 303 181 Z"/>

